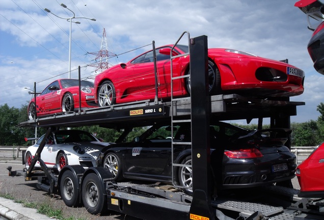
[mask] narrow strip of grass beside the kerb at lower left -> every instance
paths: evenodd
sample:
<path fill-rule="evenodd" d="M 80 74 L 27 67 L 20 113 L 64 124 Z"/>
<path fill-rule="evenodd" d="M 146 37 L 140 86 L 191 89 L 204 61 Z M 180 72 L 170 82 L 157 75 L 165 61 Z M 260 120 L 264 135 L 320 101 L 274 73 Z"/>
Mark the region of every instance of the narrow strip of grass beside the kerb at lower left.
<path fill-rule="evenodd" d="M 43 204 L 43 203 L 35 203 L 35 202 L 28 202 L 25 200 L 15 200 L 15 198 L 8 194 L 8 193 L 1 193 L 0 197 L 3 197 L 5 199 L 10 199 L 13 200 L 15 203 L 19 203 L 21 205 L 23 205 L 24 207 L 27 208 L 33 208 L 33 209 L 37 209 L 37 212 L 40 214 L 44 214 L 48 217 L 51 218 L 56 218 L 59 220 L 85 220 L 85 218 L 75 218 L 73 216 L 70 217 L 63 217 L 63 213 L 61 209 L 54 209 L 52 208 L 49 204 Z"/>

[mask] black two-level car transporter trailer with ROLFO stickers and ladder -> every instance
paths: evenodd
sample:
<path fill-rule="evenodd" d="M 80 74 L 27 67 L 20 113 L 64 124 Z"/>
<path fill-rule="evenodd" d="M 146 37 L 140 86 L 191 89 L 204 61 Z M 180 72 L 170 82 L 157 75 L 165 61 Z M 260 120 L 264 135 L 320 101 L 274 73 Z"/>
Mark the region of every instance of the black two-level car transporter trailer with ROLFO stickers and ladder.
<path fill-rule="evenodd" d="M 68 206 L 84 205 L 93 214 L 117 211 L 141 219 L 324 219 L 324 199 L 299 198 L 299 190 L 292 188 L 290 180 L 276 185 L 227 191 L 218 191 L 210 184 L 208 137 L 211 116 L 218 120 L 246 119 L 247 122 L 258 119 L 260 129 L 263 118 L 270 118 L 271 127 L 290 128 L 290 116 L 296 115 L 296 106 L 305 103 L 292 102 L 289 98 L 259 99 L 237 94 L 208 96 L 207 37 L 190 38 L 187 32 L 181 37 L 184 34 L 187 34 L 190 45 L 190 52 L 185 55 L 191 56 L 191 74 L 184 77 L 191 77 L 191 97 L 171 97 L 167 102 L 145 100 L 46 118 L 36 117 L 18 126 L 46 127 L 47 137 L 53 129 L 63 126 L 122 128 L 127 124 L 149 125 L 165 120 L 170 120 L 170 123 L 191 122 L 192 141 L 187 144 L 192 146 L 192 165 L 172 163 L 172 166 L 192 169 L 192 195 L 185 194 L 185 188 L 159 182 L 116 182 L 110 171 L 102 167 L 85 170 L 82 166 L 66 166 L 56 175 L 41 159 L 46 138 L 41 142 L 29 169 L 12 171 L 8 167 L 9 175 L 23 175 L 26 181 L 38 180 L 38 188 L 49 194 L 61 195 Z M 173 58 L 171 54 L 171 62 Z M 289 139 L 286 145 L 290 148 Z M 177 143 L 172 143 L 172 151 L 176 147 Z M 41 171 L 33 171 L 37 161 Z"/>

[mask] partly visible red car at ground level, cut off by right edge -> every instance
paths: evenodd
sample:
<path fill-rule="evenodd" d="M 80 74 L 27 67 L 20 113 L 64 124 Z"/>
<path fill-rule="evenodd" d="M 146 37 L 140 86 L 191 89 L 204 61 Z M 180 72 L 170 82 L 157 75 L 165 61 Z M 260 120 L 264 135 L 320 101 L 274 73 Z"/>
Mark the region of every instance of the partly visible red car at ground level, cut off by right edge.
<path fill-rule="evenodd" d="M 324 198 L 324 143 L 319 145 L 296 169 L 301 186 L 299 197 Z"/>

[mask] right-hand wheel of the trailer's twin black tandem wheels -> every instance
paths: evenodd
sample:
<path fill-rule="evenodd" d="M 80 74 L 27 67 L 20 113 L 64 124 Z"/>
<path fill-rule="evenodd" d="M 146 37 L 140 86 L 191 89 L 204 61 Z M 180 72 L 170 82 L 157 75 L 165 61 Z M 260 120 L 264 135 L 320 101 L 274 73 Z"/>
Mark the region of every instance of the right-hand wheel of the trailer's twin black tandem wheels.
<path fill-rule="evenodd" d="M 82 185 L 82 200 L 91 214 L 102 214 L 106 211 L 106 197 L 103 194 L 102 180 L 94 174 L 88 174 Z"/>

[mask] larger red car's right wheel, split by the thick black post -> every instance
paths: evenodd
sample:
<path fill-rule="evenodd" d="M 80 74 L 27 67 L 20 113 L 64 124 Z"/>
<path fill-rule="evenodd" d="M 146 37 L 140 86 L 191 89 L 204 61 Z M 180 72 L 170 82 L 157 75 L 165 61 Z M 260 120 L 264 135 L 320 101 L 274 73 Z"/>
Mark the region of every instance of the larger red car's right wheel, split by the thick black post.
<path fill-rule="evenodd" d="M 190 70 L 187 74 L 190 74 Z M 209 95 L 216 95 L 221 94 L 221 74 L 220 70 L 212 61 L 208 61 L 208 94 Z M 186 89 L 187 92 L 191 93 L 191 77 L 186 79 Z"/>

